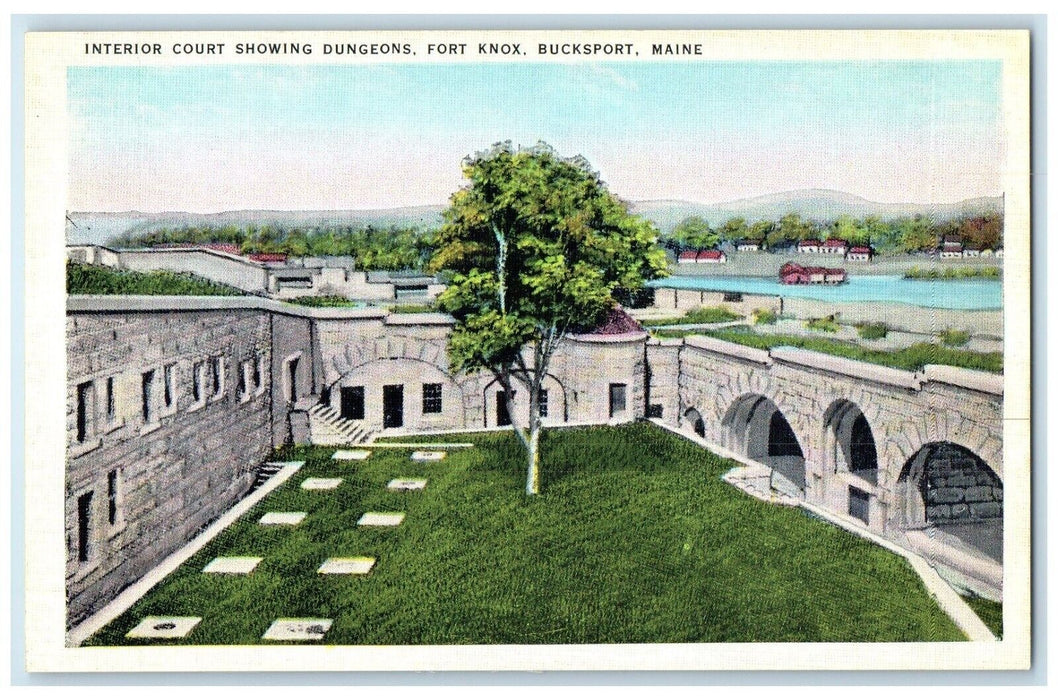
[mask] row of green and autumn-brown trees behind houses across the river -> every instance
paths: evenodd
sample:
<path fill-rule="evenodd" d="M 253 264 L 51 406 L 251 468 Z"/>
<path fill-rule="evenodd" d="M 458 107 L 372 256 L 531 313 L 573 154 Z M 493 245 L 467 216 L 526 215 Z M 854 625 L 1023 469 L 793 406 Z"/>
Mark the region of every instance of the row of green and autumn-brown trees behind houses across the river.
<path fill-rule="evenodd" d="M 892 220 L 842 215 L 833 221 L 817 222 L 791 213 L 778 221 L 753 223 L 733 217 L 718 226 L 695 216 L 683 219 L 662 237 L 661 243 L 678 253 L 750 239 L 761 241 L 768 250 L 784 250 L 807 239 L 837 238 L 852 245 L 870 245 L 882 255 L 896 255 L 933 251 L 946 236 L 957 236 L 968 247 L 995 250 L 1003 243 L 1003 215 L 992 211 L 943 221 L 923 215 Z"/>

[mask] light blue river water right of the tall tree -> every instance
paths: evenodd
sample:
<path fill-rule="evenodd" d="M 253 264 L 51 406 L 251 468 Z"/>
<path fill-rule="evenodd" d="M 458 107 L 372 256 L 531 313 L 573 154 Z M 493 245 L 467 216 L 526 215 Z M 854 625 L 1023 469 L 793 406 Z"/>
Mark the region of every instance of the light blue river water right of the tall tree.
<path fill-rule="evenodd" d="M 844 284 L 782 284 L 764 277 L 669 277 L 651 287 L 742 292 L 821 301 L 895 301 L 927 309 L 992 310 L 1003 308 L 999 279 L 904 279 L 898 275 L 853 275 Z"/>

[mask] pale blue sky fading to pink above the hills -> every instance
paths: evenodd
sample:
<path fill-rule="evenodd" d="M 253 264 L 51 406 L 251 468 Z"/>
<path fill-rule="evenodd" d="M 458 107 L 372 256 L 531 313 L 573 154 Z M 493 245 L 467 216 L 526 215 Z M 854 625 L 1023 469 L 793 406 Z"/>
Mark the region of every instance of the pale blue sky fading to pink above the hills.
<path fill-rule="evenodd" d="M 996 61 L 78 67 L 67 88 L 78 211 L 442 204 L 500 141 L 584 155 L 630 201 L 1002 191 Z"/>

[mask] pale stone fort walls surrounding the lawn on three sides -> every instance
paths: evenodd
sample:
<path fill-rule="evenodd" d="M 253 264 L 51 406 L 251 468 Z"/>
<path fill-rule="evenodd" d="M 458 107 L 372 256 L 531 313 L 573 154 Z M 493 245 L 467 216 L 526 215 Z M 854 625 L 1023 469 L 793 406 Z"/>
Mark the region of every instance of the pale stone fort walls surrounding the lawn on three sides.
<path fill-rule="evenodd" d="M 85 620 L 250 492 L 273 448 L 501 429 L 491 375 L 449 367 L 452 319 L 260 297 L 71 296 L 67 624 Z M 1002 595 L 1003 377 L 891 369 L 639 328 L 574 335 L 546 425 L 653 420 L 748 482 Z"/>

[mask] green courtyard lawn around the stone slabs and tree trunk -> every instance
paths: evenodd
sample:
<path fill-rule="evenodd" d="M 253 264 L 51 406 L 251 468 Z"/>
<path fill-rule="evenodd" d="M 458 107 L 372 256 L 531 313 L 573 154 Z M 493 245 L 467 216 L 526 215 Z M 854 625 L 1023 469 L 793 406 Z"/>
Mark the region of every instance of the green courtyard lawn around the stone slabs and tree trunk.
<path fill-rule="evenodd" d="M 512 434 L 443 439 L 475 447 L 424 464 L 400 448 L 342 463 L 333 448 L 282 452 L 306 465 L 88 644 L 151 643 L 125 639 L 148 614 L 203 618 L 161 642 L 183 644 L 262 643 L 277 618 L 333 619 L 327 644 L 964 639 L 904 559 L 742 494 L 720 481 L 732 462 L 654 425 L 546 432 L 534 498 Z M 345 481 L 300 490 L 310 476 Z M 428 483 L 389 493 L 395 477 Z M 407 515 L 358 529 L 368 510 Z M 257 524 L 269 511 L 309 515 Z M 201 573 L 218 555 L 264 560 Z M 378 557 L 370 575 L 315 573 L 357 555 Z"/>

